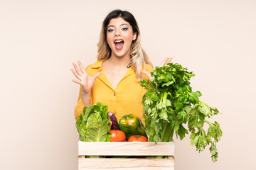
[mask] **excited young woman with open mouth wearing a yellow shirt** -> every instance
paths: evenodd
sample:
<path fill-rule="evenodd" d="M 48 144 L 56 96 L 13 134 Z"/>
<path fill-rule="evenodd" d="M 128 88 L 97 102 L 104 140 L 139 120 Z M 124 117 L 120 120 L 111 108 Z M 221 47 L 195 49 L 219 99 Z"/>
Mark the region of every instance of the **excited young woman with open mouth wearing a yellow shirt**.
<path fill-rule="evenodd" d="M 131 113 L 142 118 L 142 96 L 146 90 L 139 81 L 151 79 L 149 72 L 154 69 L 142 50 L 139 27 L 132 13 L 110 12 L 102 23 L 97 46 L 97 62 L 85 69 L 78 61 L 71 69 L 78 78 L 72 81 L 80 84 L 75 120 L 85 106 L 97 102 L 107 104 L 117 120 Z M 169 62 L 171 58 L 166 58 L 160 67 Z"/>

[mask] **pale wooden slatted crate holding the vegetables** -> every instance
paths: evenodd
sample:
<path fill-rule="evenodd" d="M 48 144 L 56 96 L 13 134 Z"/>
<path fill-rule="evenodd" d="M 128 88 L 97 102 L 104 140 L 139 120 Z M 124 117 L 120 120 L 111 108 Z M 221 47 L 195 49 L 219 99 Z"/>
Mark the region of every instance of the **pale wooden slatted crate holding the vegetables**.
<path fill-rule="evenodd" d="M 174 170 L 174 142 L 78 142 L 78 169 Z M 169 156 L 168 159 L 85 156 Z"/>

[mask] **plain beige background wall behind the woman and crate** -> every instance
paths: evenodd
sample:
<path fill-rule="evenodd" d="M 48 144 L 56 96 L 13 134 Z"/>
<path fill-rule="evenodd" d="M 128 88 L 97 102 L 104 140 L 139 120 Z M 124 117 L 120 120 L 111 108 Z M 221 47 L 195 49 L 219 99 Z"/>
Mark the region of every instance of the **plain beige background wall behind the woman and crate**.
<path fill-rule="evenodd" d="M 72 62 L 96 61 L 108 12 L 132 12 L 154 66 L 174 57 L 223 114 L 219 159 L 176 141 L 176 170 L 255 170 L 256 1 L 0 0 L 0 169 L 78 169 Z"/>

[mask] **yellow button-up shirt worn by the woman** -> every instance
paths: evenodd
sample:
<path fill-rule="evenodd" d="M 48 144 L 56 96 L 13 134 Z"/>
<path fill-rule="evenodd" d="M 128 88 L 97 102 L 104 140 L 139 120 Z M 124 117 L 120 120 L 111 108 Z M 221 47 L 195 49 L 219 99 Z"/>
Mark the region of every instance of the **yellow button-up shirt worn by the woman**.
<path fill-rule="evenodd" d="M 102 61 L 90 64 L 86 67 L 85 71 L 92 77 L 97 72 L 102 71 Z M 153 72 L 154 69 L 149 64 L 146 64 L 146 71 Z M 147 77 L 144 76 L 144 79 L 147 79 Z M 82 87 L 80 86 L 78 103 L 75 106 L 75 120 L 78 119 L 78 116 L 82 113 L 84 108 L 81 100 L 81 91 Z M 110 81 L 107 79 L 104 72 L 102 72 L 92 86 L 90 103 L 95 104 L 101 102 L 107 104 L 108 111 L 115 113 L 118 121 L 123 115 L 128 114 L 134 114 L 142 118 L 142 96 L 145 93 L 146 89 L 139 85 L 139 81 L 137 81 L 136 74 L 132 67 L 124 74 L 124 77 L 119 81 L 116 89 L 113 89 Z"/>

